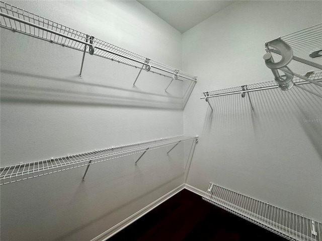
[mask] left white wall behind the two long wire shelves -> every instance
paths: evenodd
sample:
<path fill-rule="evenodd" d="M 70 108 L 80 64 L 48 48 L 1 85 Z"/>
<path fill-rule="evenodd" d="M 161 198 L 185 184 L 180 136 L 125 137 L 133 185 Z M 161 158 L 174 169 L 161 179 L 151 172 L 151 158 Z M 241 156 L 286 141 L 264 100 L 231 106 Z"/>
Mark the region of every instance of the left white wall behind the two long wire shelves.
<path fill-rule="evenodd" d="M 136 1 L 10 4 L 173 67 L 181 34 Z M 1 166 L 183 134 L 169 78 L 1 28 Z M 183 146 L 1 187 L 1 240 L 90 240 L 183 183 Z"/>

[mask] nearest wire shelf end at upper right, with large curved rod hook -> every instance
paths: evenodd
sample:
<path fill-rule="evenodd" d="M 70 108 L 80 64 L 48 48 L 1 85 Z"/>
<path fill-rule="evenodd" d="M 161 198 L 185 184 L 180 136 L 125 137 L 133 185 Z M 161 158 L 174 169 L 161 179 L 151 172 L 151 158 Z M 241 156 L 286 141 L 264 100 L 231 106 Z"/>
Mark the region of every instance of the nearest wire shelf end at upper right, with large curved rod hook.
<path fill-rule="evenodd" d="M 281 90 L 297 86 L 292 81 L 294 76 L 322 87 L 322 83 L 306 76 L 315 70 L 322 70 L 322 23 L 266 42 L 265 46 L 265 64 L 271 69 Z M 284 73 L 284 76 L 280 73 Z M 300 88 L 322 97 L 319 93 Z"/>

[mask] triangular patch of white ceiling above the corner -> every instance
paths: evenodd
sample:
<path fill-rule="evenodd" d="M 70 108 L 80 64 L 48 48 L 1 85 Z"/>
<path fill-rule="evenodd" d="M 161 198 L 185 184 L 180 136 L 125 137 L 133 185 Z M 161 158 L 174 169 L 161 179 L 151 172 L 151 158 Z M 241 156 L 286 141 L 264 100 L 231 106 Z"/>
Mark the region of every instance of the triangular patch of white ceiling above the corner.
<path fill-rule="evenodd" d="M 172 27 L 186 32 L 235 1 L 138 1 Z"/>

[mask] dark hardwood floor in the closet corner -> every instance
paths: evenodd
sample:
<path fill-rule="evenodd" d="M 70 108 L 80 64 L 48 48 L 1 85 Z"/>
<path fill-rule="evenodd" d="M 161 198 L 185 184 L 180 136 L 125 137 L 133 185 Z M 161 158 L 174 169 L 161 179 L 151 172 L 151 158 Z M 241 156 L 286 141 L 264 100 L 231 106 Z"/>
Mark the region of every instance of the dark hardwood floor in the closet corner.
<path fill-rule="evenodd" d="M 210 204 L 186 189 L 111 238 L 117 240 L 285 241 L 260 226 Z"/>

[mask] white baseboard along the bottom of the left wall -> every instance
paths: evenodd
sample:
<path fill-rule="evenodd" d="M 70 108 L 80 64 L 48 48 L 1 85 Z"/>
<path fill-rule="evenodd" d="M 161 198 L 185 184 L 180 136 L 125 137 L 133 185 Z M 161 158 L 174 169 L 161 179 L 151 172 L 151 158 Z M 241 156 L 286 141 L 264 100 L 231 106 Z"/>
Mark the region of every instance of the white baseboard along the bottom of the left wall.
<path fill-rule="evenodd" d="M 189 186 L 189 188 L 190 187 L 191 186 Z M 160 205 L 164 201 L 166 201 L 169 198 L 171 198 L 172 196 L 176 195 L 178 192 L 180 192 L 184 188 L 186 188 L 185 184 L 182 184 L 182 185 L 178 186 L 174 190 L 168 192 L 166 195 L 160 197 L 159 199 L 155 200 L 154 202 L 152 202 L 151 204 L 147 205 L 146 207 L 143 207 L 141 210 L 137 211 L 133 215 L 129 216 L 128 218 L 124 219 L 120 223 L 116 224 L 115 226 L 113 226 L 110 229 L 106 230 L 105 232 L 101 233 L 97 237 L 93 238 L 91 241 L 105 241 L 105 240 L 107 240 L 108 238 L 110 238 L 111 236 L 116 234 L 117 232 L 121 231 L 122 229 L 124 229 L 125 227 L 130 225 L 132 222 L 134 222 L 137 219 L 139 219 L 144 214 L 146 214 L 149 211 L 151 211 L 153 208 L 157 207 L 158 205 Z M 199 189 L 197 189 L 197 190 L 199 190 Z"/>

